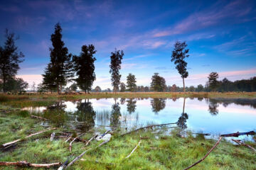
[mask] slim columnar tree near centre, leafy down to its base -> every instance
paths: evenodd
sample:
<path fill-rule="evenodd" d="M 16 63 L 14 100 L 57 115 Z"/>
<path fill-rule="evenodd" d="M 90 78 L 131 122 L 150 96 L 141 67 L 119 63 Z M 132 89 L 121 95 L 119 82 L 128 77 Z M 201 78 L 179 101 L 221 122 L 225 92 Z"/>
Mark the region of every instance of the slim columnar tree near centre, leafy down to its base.
<path fill-rule="evenodd" d="M 111 52 L 110 74 L 111 74 L 112 86 L 114 87 L 114 93 L 116 93 L 117 90 L 119 89 L 119 84 L 121 79 L 121 75 L 119 74 L 119 69 L 121 69 L 123 56 L 124 56 L 123 50 L 120 51 L 116 49 L 114 52 Z"/>

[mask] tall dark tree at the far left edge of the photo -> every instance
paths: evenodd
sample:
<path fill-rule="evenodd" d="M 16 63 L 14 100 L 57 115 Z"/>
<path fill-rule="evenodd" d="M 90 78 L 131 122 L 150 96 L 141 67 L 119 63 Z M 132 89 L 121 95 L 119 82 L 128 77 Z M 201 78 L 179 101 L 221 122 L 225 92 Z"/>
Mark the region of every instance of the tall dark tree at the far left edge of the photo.
<path fill-rule="evenodd" d="M 6 82 L 14 79 L 20 69 L 18 64 L 24 61 L 23 53 L 18 51 L 15 44 L 15 41 L 18 40 L 15 34 L 9 33 L 9 30 L 6 29 L 5 38 L 4 46 L 0 47 L 0 79 L 4 93 L 9 88 L 6 86 Z"/>

